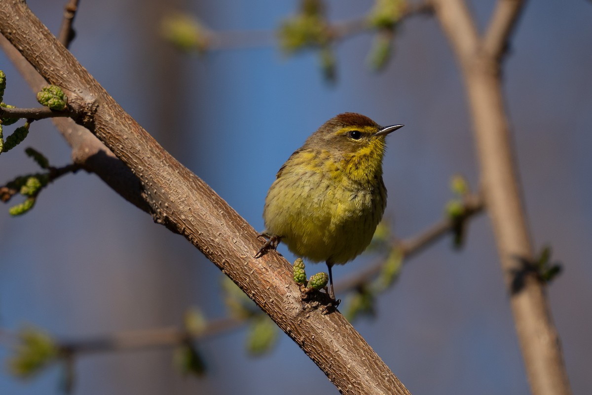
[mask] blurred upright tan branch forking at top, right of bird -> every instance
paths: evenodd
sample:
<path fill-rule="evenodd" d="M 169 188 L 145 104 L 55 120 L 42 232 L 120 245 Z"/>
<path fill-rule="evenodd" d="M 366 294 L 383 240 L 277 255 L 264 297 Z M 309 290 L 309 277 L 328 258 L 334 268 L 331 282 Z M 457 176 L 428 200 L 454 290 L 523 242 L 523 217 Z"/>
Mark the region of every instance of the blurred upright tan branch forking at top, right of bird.
<path fill-rule="evenodd" d="M 436 15 L 458 57 L 474 124 L 485 204 L 532 393 L 570 394 L 545 286 L 533 269 L 513 143 L 501 90 L 501 60 L 524 1 L 499 0 L 483 38 L 475 39 L 462 0 L 434 0 Z M 466 35 L 469 37 L 466 37 Z"/>

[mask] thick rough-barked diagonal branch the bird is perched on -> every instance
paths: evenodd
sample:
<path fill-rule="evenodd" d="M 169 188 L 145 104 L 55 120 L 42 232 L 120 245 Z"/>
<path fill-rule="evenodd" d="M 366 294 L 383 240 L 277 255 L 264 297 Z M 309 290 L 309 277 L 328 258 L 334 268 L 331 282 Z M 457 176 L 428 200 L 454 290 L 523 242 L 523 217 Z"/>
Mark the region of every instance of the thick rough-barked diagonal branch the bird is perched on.
<path fill-rule="evenodd" d="M 141 183 L 157 223 L 185 236 L 252 298 L 344 394 L 408 394 L 362 336 L 335 311 L 303 305 L 289 263 L 260 248 L 257 233 L 200 178 L 175 160 L 76 61 L 24 1 L 0 0 L 0 33 L 69 103 Z"/>

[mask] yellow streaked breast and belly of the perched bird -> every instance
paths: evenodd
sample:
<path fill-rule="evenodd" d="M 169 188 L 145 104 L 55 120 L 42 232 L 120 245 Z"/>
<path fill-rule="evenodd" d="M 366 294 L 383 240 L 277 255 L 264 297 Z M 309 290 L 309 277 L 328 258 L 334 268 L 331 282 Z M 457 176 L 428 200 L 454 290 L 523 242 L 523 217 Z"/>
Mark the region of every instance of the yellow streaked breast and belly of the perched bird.
<path fill-rule="evenodd" d="M 327 151 L 295 152 L 265 200 L 266 232 L 313 262 L 343 264 L 362 253 L 387 200 L 382 158 L 362 154 L 337 162 Z M 378 167 L 368 159 L 378 159 Z"/>

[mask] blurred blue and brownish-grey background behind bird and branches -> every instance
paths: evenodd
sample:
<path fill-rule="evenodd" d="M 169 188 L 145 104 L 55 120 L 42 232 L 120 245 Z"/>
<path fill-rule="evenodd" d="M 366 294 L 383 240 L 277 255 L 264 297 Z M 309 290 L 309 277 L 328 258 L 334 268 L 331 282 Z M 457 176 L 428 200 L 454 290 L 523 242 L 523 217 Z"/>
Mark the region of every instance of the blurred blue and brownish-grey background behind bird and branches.
<path fill-rule="evenodd" d="M 373 2 L 332 0 L 330 20 L 361 17 Z M 57 33 L 63 1 L 30 0 Z M 404 21 L 394 57 L 368 68 L 372 34 L 336 46 L 337 77 L 323 78 L 317 53 L 282 56 L 278 44 L 199 54 L 173 49 L 159 34 L 173 11 L 198 15 L 220 31 L 272 31 L 297 1 L 82 1 L 70 50 L 173 156 L 205 180 L 255 229 L 279 166 L 325 120 L 355 111 L 379 124 L 406 126 L 388 139 L 387 214 L 398 237 L 443 217 L 451 176 L 478 186 L 478 162 L 464 86 L 434 17 Z M 481 30 L 494 2 L 471 2 Z M 527 214 L 537 250 L 549 243 L 564 271 L 548 288 L 574 394 L 590 393 L 592 364 L 592 4 L 528 2 L 504 65 Z M 4 101 L 37 105 L 7 57 Z M 8 128 L 7 128 L 8 129 Z M 6 131 L 5 131 L 6 135 Z M 33 146 L 53 165 L 70 150 L 50 121 L 35 123 L 24 146 L 0 158 L 0 184 L 36 172 Z M 59 339 L 181 326 L 198 307 L 224 317 L 223 275 L 184 238 L 153 223 L 104 185 L 79 172 L 44 190 L 30 213 L 0 207 L 0 327 L 41 327 Z M 280 251 L 293 260 L 285 248 Z M 360 256 L 334 270 L 336 281 L 361 270 Z M 318 266 L 319 270 L 323 270 Z M 486 215 L 471 221 L 465 248 L 452 238 L 406 263 L 377 300 L 375 319 L 354 326 L 414 394 L 525 394 L 493 232 Z M 283 333 L 262 357 L 245 351 L 240 327 L 200 342 L 204 377 L 182 377 L 172 349 L 105 352 L 76 360 L 75 394 L 337 393 Z M 0 345 L 4 361 L 11 348 Z M 0 393 L 59 393 L 59 367 L 30 381 L 0 372 Z"/>

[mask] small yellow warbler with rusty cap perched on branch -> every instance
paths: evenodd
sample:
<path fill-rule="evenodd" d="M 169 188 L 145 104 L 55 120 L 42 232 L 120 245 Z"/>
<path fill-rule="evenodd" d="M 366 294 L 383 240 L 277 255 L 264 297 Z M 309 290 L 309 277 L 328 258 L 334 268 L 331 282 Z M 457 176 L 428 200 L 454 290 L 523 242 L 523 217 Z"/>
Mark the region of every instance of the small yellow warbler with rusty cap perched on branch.
<path fill-rule="evenodd" d="M 279 169 L 265 198 L 256 258 L 284 242 L 294 255 L 326 262 L 334 306 L 333 265 L 360 255 L 387 205 L 382 181 L 385 137 L 403 125 L 378 126 L 365 115 L 339 114 L 311 134 Z"/>

